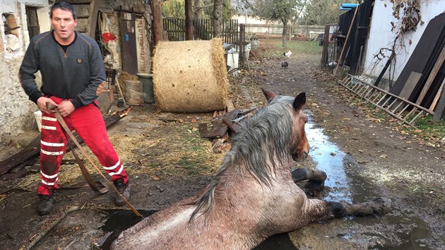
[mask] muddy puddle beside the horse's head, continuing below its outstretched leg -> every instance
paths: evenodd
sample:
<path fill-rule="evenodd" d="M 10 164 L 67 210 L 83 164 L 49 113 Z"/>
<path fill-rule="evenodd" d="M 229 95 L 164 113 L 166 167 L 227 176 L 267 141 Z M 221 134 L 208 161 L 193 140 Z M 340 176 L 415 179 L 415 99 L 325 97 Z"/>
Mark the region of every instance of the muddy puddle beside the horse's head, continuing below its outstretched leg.
<path fill-rule="evenodd" d="M 329 141 L 328 136 L 324 134 L 324 129 L 316 127 L 316 124 L 309 121 L 306 133 L 311 145 L 309 155 L 316 162 L 316 168 L 326 172 L 328 176 L 325 181 L 328 194 L 324 200 L 362 203 L 381 196 L 378 186 L 354 174 L 352 169 L 360 169 L 358 167 L 360 163 Z M 413 215 L 410 210 L 394 205 L 396 204 L 393 203 L 390 212 L 382 218 L 382 223 L 390 232 L 361 232 L 364 236 L 380 238 L 381 242 L 386 242 L 372 249 L 429 249 L 422 243 L 432 236 L 429 224 Z M 353 219 L 345 218 L 345 220 Z M 372 226 L 375 221 L 360 220 L 359 223 L 366 227 Z M 352 236 L 340 234 L 338 237 L 348 240 Z M 386 239 L 387 237 L 391 239 Z"/>

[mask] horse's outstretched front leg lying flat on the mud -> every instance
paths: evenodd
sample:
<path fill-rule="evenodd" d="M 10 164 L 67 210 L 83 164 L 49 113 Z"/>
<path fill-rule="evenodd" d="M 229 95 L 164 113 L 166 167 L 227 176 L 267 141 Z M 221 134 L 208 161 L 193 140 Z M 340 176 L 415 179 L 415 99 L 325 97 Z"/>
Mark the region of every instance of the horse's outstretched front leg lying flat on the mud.
<path fill-rule="evenodd" d="M 307 220 L 310 222 L 341 218 L 346 215 L 381 216 L 388 213 L 389 208 L 391 208 L 391 200 L 385 197 L 374 198 L 372 201 L 357 204 L 319 199 L 308 199 L 307 202 L 309 204 L 305 213 Z"/>

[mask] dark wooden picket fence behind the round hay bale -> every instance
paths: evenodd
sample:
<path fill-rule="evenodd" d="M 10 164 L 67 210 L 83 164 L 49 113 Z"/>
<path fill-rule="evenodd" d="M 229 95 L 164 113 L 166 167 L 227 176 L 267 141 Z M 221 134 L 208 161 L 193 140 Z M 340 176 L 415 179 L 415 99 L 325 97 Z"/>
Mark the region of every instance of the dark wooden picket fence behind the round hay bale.
<path fill-rule="evenodd" d="M 186 25 L 185 20 L 180 18 L 163 18 L 162 27 L 167 33 L 169 41 L 184 41 Z M 223 40 L 226 43 L 238 44 L 238 20 L 223 21 Z M 210 40 L 213 38 L 213 25 L 210 19 L 193 20 L 193 38 L 194 40 Z"/>

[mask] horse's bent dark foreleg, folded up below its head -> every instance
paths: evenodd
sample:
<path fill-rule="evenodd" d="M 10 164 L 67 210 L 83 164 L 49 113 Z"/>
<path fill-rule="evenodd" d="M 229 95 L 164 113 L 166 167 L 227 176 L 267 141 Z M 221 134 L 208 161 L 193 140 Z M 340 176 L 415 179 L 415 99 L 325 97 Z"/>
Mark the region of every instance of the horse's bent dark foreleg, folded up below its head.
<path fill-rule="evenodd" d="M 324 189 L 326 178 L 326 173 L 317 169 L 297 168 L 292 171 L 292 179 L 295 182 L 307 180 L 302 189 L 309 196 L 316 196 Z"/>

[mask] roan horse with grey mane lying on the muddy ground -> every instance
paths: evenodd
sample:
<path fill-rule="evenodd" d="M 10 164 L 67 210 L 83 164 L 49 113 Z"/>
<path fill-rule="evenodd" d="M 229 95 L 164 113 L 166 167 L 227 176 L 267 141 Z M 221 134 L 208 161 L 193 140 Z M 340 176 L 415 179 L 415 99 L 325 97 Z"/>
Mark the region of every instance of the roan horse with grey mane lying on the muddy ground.
<path fill-rule="evenodd" d="M 121 232 L 111 249 L 251 249 L 311 222 L 388 211 L 388 198 L 357 204 L 307 198 L 294 180 L 317 174 L 291 172 L 292 162 L 309 154 L 306 95 L 262 91 L 268 105 L 242 126 L 210 184 Z"/>

